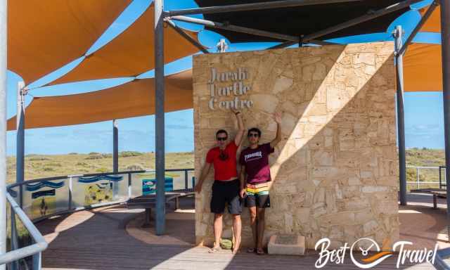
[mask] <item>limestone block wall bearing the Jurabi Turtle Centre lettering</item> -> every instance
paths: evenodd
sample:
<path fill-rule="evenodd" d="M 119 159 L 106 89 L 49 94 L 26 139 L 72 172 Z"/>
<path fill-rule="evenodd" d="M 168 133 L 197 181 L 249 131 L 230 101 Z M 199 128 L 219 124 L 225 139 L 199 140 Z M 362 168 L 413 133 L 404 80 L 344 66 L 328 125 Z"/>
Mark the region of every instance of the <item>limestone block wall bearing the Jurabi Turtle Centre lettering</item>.
<path fill-rule="evenodd" d="M 392 43 L 374 43 L 195 56 L 195 175 L 215 146 L 215 131 L 235 134 L 236 119 L 221 101 L 235 96 L 251 101 L 242 110 L 244 124 L 262 130 L 262 143 L 275 137 L 271 115 L 281 111 L 283 141 L 270 158 L 274 181 L 265 237 L 300 233 L 307 248 L 324 237 L 336 247 L 371 237 L 390 247 L 399 238 L 392 51 Z M 212 110 L 207 83 L 212 68 L 244 68 L 246 93 L 217 96 Z M 245 138 L 242 147 L 247 145 Z M 212 181 L 210 173 L 195 198 L 198 244 L 213 242 Z M 242 217 L 243 245 L 250 245 L 247 209 Z M 224 236 L 231 236 L 228 215 Z"/>

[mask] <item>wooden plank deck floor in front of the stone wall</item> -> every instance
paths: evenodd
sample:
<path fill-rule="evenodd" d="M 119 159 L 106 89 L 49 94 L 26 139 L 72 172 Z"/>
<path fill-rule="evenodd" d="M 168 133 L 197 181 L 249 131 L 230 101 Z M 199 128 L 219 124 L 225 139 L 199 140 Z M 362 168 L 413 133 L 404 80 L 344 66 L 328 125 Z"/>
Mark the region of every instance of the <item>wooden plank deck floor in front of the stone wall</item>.
<path fill-rule="evenodd" d="M 122 206 L 76 212 L 37 224 L 49 242 L 42 256 L 44 269 L 315 269 L 318 256 L 309 251 L 304 257 L 258 256 L 229 250 L 211 255 L 207 248 L 191 243 L 174 245 L 164 238 L 158 244 L 146 243 L 127 233 L 128 221 L 143 214 Z M 168 220 L 167 226 L 183 220 Z M 188 230 L 186 233 L 193 233 Z M 186 238 L 184 238 L 186 240 Z M 148 242 L 148 241 L 147 241 Z M 396 269 L 396 258 L 386 259 L 373 269 Z M 349 258 L 345 264 L 328 263 L 323 269 L 358 269 Z M 431 264 L 403 266 L 401 269 L 434 269 Z"/>

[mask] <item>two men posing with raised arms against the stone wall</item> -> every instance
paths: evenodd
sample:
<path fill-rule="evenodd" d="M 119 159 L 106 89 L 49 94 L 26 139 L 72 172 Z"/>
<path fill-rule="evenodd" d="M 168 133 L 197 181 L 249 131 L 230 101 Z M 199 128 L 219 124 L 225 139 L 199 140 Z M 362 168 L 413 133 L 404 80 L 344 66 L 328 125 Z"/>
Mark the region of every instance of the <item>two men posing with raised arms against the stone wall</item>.
<path fill-rule="evenodd" d="M 214 213 L 214 246 L 210 252 L 219 250 L 219 241 L 222 231 L 222 217 L 225 203 L 233 215 L 233 233 L 235 243 L 233 253 L 236 254 L 240 247 L 240 231 L 242 212 L 241 201 L 245 198 L 245 205 L 250 210 L 250 221 L 252 226 L 254 248 L 248 252 L 257 252 L 262 255 L 262 240 L 264 236 L 264 210 L 270 207 L 269 181 L 271 181 L 268 155 L 274 152 L 274 146 L 281 141 L 281 115 L 276 113 L 274 120 L 277 123 L 276 138 L 270 143 L 259 145 L 261 131 L 252 128 L 248 131 L 250 146 L 240 154 L 240 177 L 237 179 L 236 152 L 243 139 L 245 129 L 243 127 L 240 112 L 233 110 L 238 117 L 238 133 L 234 141 L 228 143 L 228 134 L 223 129 L 217 131 L 216 139 L 218 146 L 210 149 L 207 153 L 205 165 L 200 173 L 195 191 L 200 193 L 203 181 L 214 164 L 214 184 L 212 185 L 211 212 Z M 226 158 L 225 158 L 226 157 Z"/>

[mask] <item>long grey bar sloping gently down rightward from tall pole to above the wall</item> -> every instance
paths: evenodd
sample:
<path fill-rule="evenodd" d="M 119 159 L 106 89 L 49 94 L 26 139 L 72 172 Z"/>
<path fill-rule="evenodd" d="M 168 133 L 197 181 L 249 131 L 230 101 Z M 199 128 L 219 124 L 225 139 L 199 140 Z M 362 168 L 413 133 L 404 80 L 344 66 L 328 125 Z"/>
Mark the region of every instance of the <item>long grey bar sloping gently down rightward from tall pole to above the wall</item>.
<path fill-rule="evenodd" d="M 281 40 L 295 41 L 295 42 L 300 41 L 299 37 L 290 36 L 288 34 L 278 34 L 278 33 L 274 33 L 274 32 L 257 30 L 257 29 L 242 27 L 242 26 L 237 26 L 237 25 L 229 25 L 226 23 L 217 23 L 217 22 L 213 22 L 211 20 L 203 20 L 203 19 L 192 18 L 192 17 L 188 17 L 188 16 L 179 15 L 179 16 L 171 16 L 171 17 L 167 17 L 167 18 L 169 18 L 169 20 L 179 20 L 181 22 L 195 23 L 197 25 L 205 25 L 207 27 L 217 28 L 217 29 L 221 29 L 221 30 L 229 30 L 229 31 L 240 32 L 240 33 L 245 33 L 245 34 L 255 34 L 256 36 L 270 37 L 272 39 L 281 39 Z"/>

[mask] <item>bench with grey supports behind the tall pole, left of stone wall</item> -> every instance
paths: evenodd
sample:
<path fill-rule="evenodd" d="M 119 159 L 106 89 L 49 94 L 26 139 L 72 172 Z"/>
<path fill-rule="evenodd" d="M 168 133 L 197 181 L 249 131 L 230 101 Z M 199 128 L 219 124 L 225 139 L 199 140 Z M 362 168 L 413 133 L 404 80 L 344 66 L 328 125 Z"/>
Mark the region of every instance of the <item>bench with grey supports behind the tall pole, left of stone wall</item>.
<path fill-rule="evenodd" d="M 166 192 L 165 193 L 166 207 L 170 207 L 169 202 L 172 200 L 175 200 L 175 210 L 177 210 L 180 208 L 179 198 L 194 195 L 194 194 L 195 193 L 192 191 Z M 141 195 L 139 197 L 129 199 L 129 200 L 127 200 L 126 205 L 127 205 L 128 209 L 145 209 L 146 210 L 146 218 L 145 218 L 144 224 L 142 226 L 144 228 L 150 227 L 151 209 L 156 206 L 156 194 Z"/>

